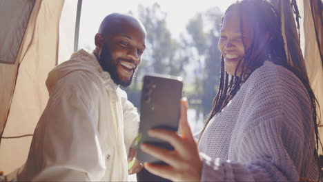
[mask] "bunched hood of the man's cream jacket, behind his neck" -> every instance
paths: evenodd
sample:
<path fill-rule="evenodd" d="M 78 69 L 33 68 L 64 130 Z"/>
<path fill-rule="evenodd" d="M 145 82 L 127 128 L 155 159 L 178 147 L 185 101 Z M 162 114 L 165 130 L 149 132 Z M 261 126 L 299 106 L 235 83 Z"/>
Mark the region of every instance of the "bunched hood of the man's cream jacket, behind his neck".
<path fill-rule="evenodd" d="M 46 80 L 46 86 L 48 92 L 59 79 L 65 77 L 70 72 L 77 70 L 84 70 L 96 74 L 101 77 L 101 72 L 103 72 L 101 65 L 95 55 L 90 52 L 90 50 L 81 49 L 78 52 L 72 54 L 68 61 L 65 61 L 57 65 L 52 71 L 48 73 L 48 78 Z M 108 72 L 105 72 L 108 74 Z M 108 79 L 110 79 L 110 74 L 108 74 Z"/>

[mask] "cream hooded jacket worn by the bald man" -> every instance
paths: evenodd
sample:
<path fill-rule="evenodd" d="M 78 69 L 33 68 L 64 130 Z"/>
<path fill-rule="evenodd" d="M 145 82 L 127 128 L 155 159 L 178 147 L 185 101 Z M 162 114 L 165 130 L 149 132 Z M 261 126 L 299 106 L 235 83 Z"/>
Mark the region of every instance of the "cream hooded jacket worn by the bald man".
<path fill-rule="evenodd" d="M 139 116 L 94 54 L 79 50 L 46 85 L 50 98 L 18 181 L 127 181 Z"/>

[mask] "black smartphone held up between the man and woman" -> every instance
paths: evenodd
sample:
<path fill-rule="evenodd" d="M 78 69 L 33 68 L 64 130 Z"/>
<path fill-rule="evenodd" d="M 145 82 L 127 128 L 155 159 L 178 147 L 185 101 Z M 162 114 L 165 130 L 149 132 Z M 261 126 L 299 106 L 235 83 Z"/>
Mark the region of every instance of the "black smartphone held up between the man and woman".
<path fill-rule="evenodd" d="M 179 104 L 182 98 L 183 82 L 181 77 L 163 74 L 149 74 L 144 77 L 141 90 L 139 144 L 149 143 L 160 148 L 173 150 L 166 141 L 148 136 L 150 128 L 164 128 L 177 131 L 179 125 Z M 139 161 L 162 163 L 159 159 L 138 148 Z"/>

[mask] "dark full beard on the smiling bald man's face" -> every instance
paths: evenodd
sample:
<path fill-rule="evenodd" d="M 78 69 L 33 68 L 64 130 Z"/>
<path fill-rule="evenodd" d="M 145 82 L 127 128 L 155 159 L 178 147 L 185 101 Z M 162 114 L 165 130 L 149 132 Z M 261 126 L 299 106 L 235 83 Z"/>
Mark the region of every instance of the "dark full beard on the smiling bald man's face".
<path fill-rule="evenodd" d="M 114 62 L 111 58 L 111 54 L 110 54 L 110 50 L 108 50 L 108 46 L 106 44 L 102 46 L 101 54 L 99 54 L 99 63 L 101 65 L 102 70 L 104 70 L 105 72 L 108 72 L 110 74 L 111 79 L 117 85 L 121 85 L 122 87 L 126 88 L 129 85 L 131 85 L 131 83 L 133 83 L 133 77 L 137 72 L 137 66 L 135 70 L 133 70 L 133 75 L 131 75 L 130 79 L 128 81 L 122 81 L 121 78 L 119 77 L 119 74 L 117 73 L 117 63 L 119 63 L 119 61 L 121 60 L 124 60 L 124 59 L 117 58 L 116 62 Z"/>

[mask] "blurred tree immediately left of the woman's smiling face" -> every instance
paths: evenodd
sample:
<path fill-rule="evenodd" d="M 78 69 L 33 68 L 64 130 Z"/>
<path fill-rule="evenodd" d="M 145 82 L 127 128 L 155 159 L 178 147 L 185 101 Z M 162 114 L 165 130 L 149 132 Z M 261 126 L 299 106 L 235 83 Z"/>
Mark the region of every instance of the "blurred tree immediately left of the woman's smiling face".
<path fill-rule="evenodd" d="M 219 8 L 210 8 L 206 12 L 196 14 L 186 26 L 191 38 L 188 45 L 197 52 L 197 56 L 190 57 L 190 61 L 197 61 L 198 64 L 194 70 L 196 93 L 193 94 L 197 117 L 199 112 L 203 112 L 204 118 L 207 117 L 219 82 L 221 60 L 217 42 L 219 41 L 221 14 Z"/>

